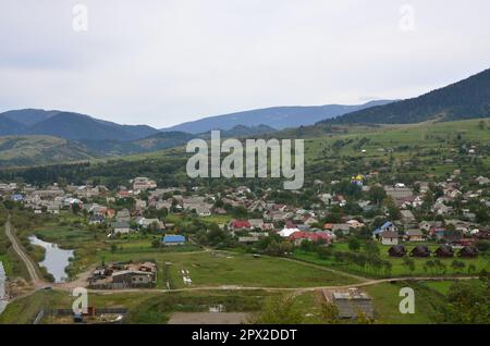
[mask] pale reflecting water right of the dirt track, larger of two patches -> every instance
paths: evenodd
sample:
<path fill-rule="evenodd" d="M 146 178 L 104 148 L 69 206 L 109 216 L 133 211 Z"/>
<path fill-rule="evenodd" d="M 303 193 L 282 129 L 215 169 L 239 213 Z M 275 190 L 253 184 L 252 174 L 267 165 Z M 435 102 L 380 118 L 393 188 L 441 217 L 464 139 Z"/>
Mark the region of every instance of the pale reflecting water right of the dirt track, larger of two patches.
<path fill-rule="evenodd" d="M 63 250 L 57 244 L 42 242 L 35 235 L 29 237 L 30 244 L 45 248 L 45 260 L 39 265 L 45 267 L 48 273 L 54 276 L 54 282 L 60 283 L 66 280 L 66 267 L 70 265 L 70 259 L 73 258 L 73 250 Z"/>

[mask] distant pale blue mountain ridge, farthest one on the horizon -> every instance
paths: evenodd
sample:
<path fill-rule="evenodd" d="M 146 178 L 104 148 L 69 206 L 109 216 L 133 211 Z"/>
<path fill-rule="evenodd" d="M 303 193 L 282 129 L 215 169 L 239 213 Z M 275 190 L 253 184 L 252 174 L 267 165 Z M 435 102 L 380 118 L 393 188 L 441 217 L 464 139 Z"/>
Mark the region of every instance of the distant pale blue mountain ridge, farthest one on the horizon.
<path fill-rule="evenodd" d="M 247 127 L 266 125 L 275 129 L 283 129 L 287 127 L 313 125 L 326 119 L 391 102 L 393 101 L 379 100 L 357 106 L 328 104 L 316 107 L 273 107 L 205 118 L 169 128 L 162 128 L 161 131 L 180 131 L 191 134 L 200 134 L 218 128 L 229 131 L 238 125 Z"/>

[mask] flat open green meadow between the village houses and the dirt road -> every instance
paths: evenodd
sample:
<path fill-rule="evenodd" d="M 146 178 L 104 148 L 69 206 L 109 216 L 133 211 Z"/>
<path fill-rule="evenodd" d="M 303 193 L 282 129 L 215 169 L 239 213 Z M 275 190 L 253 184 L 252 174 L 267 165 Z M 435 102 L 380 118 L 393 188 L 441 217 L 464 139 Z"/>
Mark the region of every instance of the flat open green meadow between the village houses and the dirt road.
<path fill-rule="evenodd" d="M 111 254 L 101 252 L 106 262 L 154 259 L 158 263 L 158 286 L 164 287 L 163 268 L 171 262 L 170 275 L 175 288 L 183 288 L 182 270 L 189 272 L 193 286 L 309 287 L 352 284 L 348 276 L 280 258 L 254 258 L 235 252 Z"/>

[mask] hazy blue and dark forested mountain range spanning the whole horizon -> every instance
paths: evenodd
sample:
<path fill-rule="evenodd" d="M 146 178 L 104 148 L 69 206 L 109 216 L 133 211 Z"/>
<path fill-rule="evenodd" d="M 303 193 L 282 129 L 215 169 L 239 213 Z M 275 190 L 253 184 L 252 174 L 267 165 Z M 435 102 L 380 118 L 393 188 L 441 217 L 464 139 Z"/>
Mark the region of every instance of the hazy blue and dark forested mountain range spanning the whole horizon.
<path fill-rule="evenodd" d="M 265 134 L 296 138 L 321 136 L 333 129 L 342 132 L 350 124 L 407 124 L 488 116 L 490 70 L 402 101 L 277 107 L 211 116 L 162 131 L 146 125 L 120 125 L 73 112 L 25 109 L 0 113 L 0 166 L 168 149 L 196 137 L 208 139 L 209 132 L 218 128 L 223 138 Z"/>

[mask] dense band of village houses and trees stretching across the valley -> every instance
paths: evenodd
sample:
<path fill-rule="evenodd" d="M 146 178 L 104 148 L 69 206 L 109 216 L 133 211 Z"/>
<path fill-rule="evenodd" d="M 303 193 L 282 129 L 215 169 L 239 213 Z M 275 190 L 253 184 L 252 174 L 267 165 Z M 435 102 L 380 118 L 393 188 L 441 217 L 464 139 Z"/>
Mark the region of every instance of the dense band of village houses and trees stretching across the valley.
<path fill-rule="evenodd" d="M 108 238 L 143 230 L 161 234 L 161 246 L 191 240 L 185 228 L 168 222 L 172 214 L 212 220 L 230 239 L 244 246 L 254 246 L 272 235 L 291 247 L 304 242 L 328 246 L 357 237 L 390 246 L 393 257 L 476 257 L 478 242 L 489 239 L 488 177 L 475 177 L 475 188 L 467 190 L 461 189 L 457 171 L 452 180 L 416 182 L 411 187 L 370 185 L 373 177 L 359 174 L 351 178 L 350 184 L 359 190 L 358 199 L 335 193 L 340 182 L 331 182 L 331 190 L 319 193 L 317 202 L 308 208 L 277 202 L 269 198 L 271 189 L 257 195 L 246 186 L 237 186 L 212 194 L 199 187 L 159 188 L 147 177 L 135 177 L 130 186 L 112 191 L 100 185 L 54 184 L 41 188 L 7 183 L 0 184 L 0 196 L 35 214 L 74 212 L 89 225 L 103 225 Z M 243 217 L 233 218 L 238 212 Z M 426 242 L 440 246 L 431 254 Z M 405 245 L 416 247 L 407 252 Z"/>

